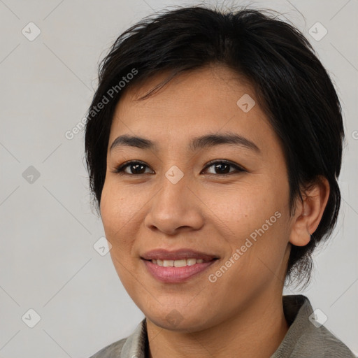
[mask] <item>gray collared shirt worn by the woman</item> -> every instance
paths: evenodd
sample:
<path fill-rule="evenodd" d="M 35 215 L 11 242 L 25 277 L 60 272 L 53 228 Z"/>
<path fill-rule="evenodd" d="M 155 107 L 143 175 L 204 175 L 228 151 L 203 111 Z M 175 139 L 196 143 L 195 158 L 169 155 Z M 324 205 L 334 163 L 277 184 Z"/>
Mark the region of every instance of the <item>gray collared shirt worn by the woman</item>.
<path fill-rule="evenodd" d="M 348 347 L 315 321 L 306 296 L 282 296 L 289 330 L 271 358 L 355 358 Z M 145 319 L 133 334 L 101 349 L 90 358 L 148 358 Z"/>

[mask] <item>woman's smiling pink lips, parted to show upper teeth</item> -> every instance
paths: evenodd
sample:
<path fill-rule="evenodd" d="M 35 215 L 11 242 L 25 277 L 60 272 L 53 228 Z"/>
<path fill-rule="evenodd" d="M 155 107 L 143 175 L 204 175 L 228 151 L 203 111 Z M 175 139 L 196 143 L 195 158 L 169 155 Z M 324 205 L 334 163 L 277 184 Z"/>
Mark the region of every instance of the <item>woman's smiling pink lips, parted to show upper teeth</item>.
<path fill-rule="evenodd" d="M 178 283 L 206 270 L 218 257 L 187 249 L 159 249 L 146 252 L 141 259 L 157 280 Z"/>

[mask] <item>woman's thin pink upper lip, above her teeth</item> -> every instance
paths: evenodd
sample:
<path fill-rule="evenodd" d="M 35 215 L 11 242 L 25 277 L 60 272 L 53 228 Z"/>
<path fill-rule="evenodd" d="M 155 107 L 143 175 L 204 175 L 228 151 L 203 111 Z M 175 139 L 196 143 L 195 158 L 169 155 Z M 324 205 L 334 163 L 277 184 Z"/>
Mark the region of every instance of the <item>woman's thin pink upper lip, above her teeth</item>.
<path fill-rule="evenodd" d="M 206 254 L 205 252 L 191 249 L 180 249 L 172 251 L 164 249 L 155 249 L 145 252 L 143 255 L 141 255 L 141 258 L 145 260 L 203 259 L 205 261 L 218 259 L 216 255 L 210 255 Z"/>

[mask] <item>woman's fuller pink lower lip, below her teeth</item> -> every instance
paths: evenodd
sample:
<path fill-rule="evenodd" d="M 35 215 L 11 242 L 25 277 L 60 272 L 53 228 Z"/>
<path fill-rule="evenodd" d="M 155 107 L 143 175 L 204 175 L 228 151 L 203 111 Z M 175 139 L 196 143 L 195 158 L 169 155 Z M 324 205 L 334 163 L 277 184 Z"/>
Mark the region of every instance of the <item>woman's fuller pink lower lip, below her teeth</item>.
<path fill-rule="evenodd" d="M 210 262 L 203 262 L 202 264 L 194 264 L 192 266 L 164 267 L 153 264 L 151 261 L 143 260 L 148 271 L 157 278 L 157 280 L 168 283 L 184 282 L 194 275 L 205 271 L 206 268 L 211 266 L 215 261 L 216 260 L 211 260 Z"/>

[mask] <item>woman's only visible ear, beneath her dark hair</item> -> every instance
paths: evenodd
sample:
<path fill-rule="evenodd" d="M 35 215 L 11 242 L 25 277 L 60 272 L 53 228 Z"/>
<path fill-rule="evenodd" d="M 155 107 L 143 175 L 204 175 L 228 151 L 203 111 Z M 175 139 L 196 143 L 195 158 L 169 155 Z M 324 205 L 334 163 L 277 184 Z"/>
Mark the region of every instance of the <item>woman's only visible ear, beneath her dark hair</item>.
<path fill-rule="evenodd" d="M 305 246 L 310 242 L 310 236 L 320 224 L 328 197 L 329 182 L 322 176 L 302 192 L 303 202 L 297 199 L 289 235 L 289 242 L 292 245 Z"/>

